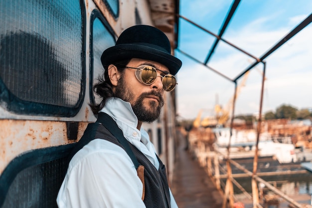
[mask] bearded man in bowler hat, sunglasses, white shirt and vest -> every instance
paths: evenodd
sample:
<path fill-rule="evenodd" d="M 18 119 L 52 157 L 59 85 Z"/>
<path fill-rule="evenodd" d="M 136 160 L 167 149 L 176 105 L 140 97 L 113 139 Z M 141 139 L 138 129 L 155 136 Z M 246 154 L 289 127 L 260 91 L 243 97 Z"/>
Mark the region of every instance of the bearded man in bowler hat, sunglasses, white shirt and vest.
<path fill-rule="evenodd" d="M 78 142 L 57 197 L 59 208 L 177 208 L 165 168 L 141 128 L 176 85 L 181 61 L 163 32 L 148 25 L 126 29 L 101 56 L 98 116 Z"/>

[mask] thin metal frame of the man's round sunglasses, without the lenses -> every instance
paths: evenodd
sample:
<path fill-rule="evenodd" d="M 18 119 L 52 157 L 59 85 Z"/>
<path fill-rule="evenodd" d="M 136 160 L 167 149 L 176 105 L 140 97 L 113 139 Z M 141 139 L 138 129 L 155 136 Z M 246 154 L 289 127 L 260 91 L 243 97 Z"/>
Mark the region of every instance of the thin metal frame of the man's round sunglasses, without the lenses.
<path fill-rule="evenodd" d="M 141 66 L 139 66 L 138 68 L 136 68 L 136 67 L 130 67 L 130 66 L 122 66 L 122 67 L 130 68 L 130 69 L 136 69 L 137 71 L 136 71 L 135 74 L 136 74 L 137 79 L 138 79 L 141 83 L 146 84 L 146 85 L 151 85 L 151 84 L 153 84 L 154 82 L 156 82 L 156 78 L 155 78 L 155 80 L 154 80 L 153 82 L 150 82 L 150 83 L 146 83 L 146 82 L 144 82 L 143 79 L 142 79 L 142 72 L 143 72 L 143 70 L 145 70 L 145 68 L 149 68 L 149 69 L 151 70 L 151 68 L 152 68 L 152 70 L 155 70 L 155 71 L 156 71 L 156 76 L 160 76 L 160 77 L 161 77 L 161 82 L 162 82 L 162 86 L 163 86 L 162 88 L 163 88 L 166 92 L 171 92 L 172 90 L 174 90 L 175 86 L 178 84 L 178 83 L 176 82 L 175 76 L 173 76 L 172 74 L 170 74 L 170 73 L 168 73 L 168 72 L 166 72 L 166 71 L 162 71 L 162 70 L 160 70 L 160 69 L 157 69 L 157 68 L 155 68 L 154 66 L 150 66 L 150 65 L 141 65 Z M 141 68 L 141 67 L 142 67 L 142 68 Z M 157 74 L 157 70 L 158 70 L 158 71 L 161 71 L 162 73 L 165 73 L 166 75 L 161 76 L 161 75 Z M 137 72 L 139 72 L 139 73 L 137 73 Z M 175 79 L 174 87 L 173 87 L 171 90 L 168 90 L 168 88 L 169 88 L 170 86 L 167 86 L 167 87 L 165 88 L 165 84 L 163 83 L 163 78 L 164 78 L 164 77 L 173 77 L 173 78 Z"/>

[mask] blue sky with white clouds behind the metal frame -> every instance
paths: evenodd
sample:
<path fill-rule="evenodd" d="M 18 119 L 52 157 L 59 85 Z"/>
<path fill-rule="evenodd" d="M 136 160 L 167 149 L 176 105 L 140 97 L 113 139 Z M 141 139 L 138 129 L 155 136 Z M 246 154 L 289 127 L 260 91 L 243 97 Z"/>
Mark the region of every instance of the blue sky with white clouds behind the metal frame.
<path fill-rule="evenodd" d="M 231 5 L 231 0 L 180 0 L 180 15 L 218 34 Z M 222 38 L 261 57 L 311 13 L 311 0 L 241 0 Z M 175 56 L 183 63 L 176 75 L 180 119 L 194 119 L 200 110 L 202 117 L 214 116 L 216 104 L 231 109 L 234 83 L 202 64 L 214 41 L 214 36 L 179 19 Z M 312 108 L 312 23 L 264 61 L 263 113 L 275 112 L 284 104 L 298 110 Z M 253 62 L 252 57 L 220 41 L 207 66 L 234 79 Z M 235 115 L 259 113 L 262 76 L 263 64 L 259 63 L 238 79 Z"/>

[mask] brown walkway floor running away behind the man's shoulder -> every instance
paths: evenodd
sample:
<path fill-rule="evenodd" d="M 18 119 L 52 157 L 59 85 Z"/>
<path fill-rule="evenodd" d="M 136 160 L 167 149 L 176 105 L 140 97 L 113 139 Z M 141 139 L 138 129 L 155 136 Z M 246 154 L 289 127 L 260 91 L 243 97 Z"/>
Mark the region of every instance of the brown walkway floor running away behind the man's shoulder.
<path fill-rule="evenodd" d="M 198 164 L 191 153 L 185 150 L 185 140 L 177 132 L 179 143 L 176 152 L 174 177 L 171 191 L 179 208 L 221 208 L 223 193 Z"/>

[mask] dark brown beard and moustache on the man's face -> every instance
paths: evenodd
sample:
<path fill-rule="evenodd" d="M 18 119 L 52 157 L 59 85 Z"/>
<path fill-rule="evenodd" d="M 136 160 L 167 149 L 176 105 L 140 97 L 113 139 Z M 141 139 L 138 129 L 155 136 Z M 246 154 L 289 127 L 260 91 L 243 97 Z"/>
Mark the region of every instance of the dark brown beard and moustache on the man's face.
<path fill-rule="evenodd" d="M 144 106 L 144 98 L 147 96 L 154 95 L 158 98 L 158 102 L 151 100 L 149 106 Z M 137 116 L 139 121 L 152 123 L 159 118 L 161 108 L 164 104 L 162 94 L 158 91 L 144 92 L 137 100 L 134 100 L 133 91 L 127 87 L 123 76 L 119 79 L 118 85 L 116 86 L 115 97 L 118 97 L 126 102 L 130 102 L 133 112 Z"/>

